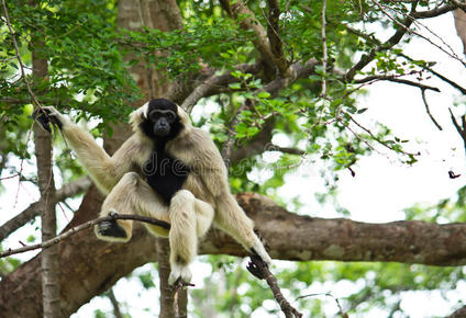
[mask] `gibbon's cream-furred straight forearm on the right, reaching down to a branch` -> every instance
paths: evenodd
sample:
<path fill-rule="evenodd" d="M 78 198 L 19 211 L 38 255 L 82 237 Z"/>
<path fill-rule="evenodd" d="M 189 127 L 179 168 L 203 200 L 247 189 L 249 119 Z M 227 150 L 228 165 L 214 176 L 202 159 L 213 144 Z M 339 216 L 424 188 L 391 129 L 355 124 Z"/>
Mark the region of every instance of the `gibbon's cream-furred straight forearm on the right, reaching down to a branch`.
<path fill-rule="evenodd" d="M 270 257 L 254 232 L 253 220 L 246 216 L 231 194 L 219 197 L 215 212 L 214 223 L 217 226 L 230 234 L 246 250 L 259 255 L 264 262 L 270 264 Z"/>

